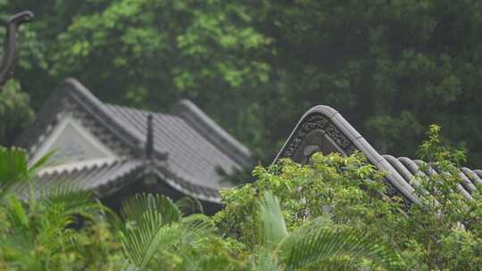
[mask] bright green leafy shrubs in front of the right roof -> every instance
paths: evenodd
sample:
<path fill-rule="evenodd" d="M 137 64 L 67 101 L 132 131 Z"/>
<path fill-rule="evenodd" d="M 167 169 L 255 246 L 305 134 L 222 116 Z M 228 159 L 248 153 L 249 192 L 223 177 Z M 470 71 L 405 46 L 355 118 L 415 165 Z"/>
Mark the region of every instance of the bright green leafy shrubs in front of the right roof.
<path fill-rule="evenodd" d="M 421 168 L 425 174 L 420 173 L 412 185 L 422 204 L 412 204 L 410 209 L 402 198 L 385 196 L 384 173 L 367 164 L 360 154 L 344 158 L 334 153 L 326 156 L 315 153 L 310 165 L 283 160 L 270 169 L 256 168 L 256 183 L 222 193 L 226 207 L 214 219 L 222 233 L 244 242 L 246 250 L 258 251 L 257 243 L 265 237 L 256 226 L 258 218 L 253 216 L 255 202 L 260 194 L 273 191 L 281 199 L 289 232 L 309 226 L 313 219 L 321 222 L 328 219 L 332 221 L 325 227 L 328 233 L 341 228 L 366 236 L 372 242 L 387 243 L 403 259 L 402 269 L 478 270 L 482 259 L 480 193 L 473 191 L 469 197 L 461 194 L 460 185 L 464 184 L 457 168 L 463 154 L 445 147 L 439 132 L 440 127 L 430 127 L 428 139 L 420 147 L 420 154 L 428 163 Z M 269 228 L 278 233 L 269 240 L 277 240 L 283 232 L 278 227 Z M 323 234 L 312 236 L 324 238 Z M 323 249 L 323 242 L 308 243 L 312 247 L 299 250 L 300 255 L 307 259 L 320 255 L 316 251 Z M 363 248 L 370 248 L 367 245 Z M 259 253 L 260 264 L 282 262 L 266 258 L 262 251 Z M 353 257 L 321 262 L 322 266 L 336 269 L 352 270 L 367 265 L 377 268 L 373 262 Z"/>

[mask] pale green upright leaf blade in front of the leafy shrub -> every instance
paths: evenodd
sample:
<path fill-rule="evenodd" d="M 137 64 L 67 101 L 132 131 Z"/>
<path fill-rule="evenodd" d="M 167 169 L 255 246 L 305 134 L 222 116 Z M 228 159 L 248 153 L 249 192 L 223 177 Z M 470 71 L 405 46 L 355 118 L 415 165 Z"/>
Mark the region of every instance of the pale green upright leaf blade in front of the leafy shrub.
<path fill-rule="evenodd" d="M 279 207 L 278 199 L 270 192 L 265 192 L 259 201 L 258 216 L 260 219 L 259 244 L 275 248 L 287 237 L 285 218 Z"/>

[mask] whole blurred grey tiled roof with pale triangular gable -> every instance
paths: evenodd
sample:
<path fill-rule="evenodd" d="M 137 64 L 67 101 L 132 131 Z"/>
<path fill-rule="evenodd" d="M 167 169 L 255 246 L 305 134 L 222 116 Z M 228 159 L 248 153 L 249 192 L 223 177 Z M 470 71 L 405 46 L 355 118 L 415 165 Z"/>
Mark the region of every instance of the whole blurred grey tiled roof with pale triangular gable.
<path fill-rule="evenodd" d="M 148 172 L 181 193 L 216 202 L 218 189 L 229 186 L 220 171 L 231 173 L 253 165 L 249 150 L 188 100 L 176 103 L 169 113 L 137 110 L 103 103 L 73 78 L 48 99 L 19 145 L 35 158 L 46 144 L 52 144 L 49 138 L 65 116 L 71 116 L 74 126 L 86 129 L 110 154 L 46 168 L 39 176 L 46 185 L 70 179 L 103 196 Z M 148 116 L 152 118 L 151 146 L 146 146 Z M 75 152 L 71 145 L 68 151 Z M 146 148 L 153 152 L 148 158 Z"/>

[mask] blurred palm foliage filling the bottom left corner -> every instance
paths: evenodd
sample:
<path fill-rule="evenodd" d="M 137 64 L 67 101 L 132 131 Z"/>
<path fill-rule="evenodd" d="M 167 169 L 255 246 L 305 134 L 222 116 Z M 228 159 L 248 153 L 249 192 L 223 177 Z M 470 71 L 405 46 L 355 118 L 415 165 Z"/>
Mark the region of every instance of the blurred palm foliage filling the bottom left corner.
<path fill-rule="evenodd" d="M 29 182 L 50 156 L 51 153 L 29 166 L 23 150 L 0 147 L 0 267 L 118 269 L 116 262 L 121 262 L 111 255 L 115 245 L 109 241 L 112 237 L 107 228 L 97 219 L 100 206 L 93 201 L 92 193 L 69 184 L 35 191 Z M 79 216 L 89 226 L 76 231 L 71 226 Z M 94 237 L 97 239 L 91 239 Z"/>

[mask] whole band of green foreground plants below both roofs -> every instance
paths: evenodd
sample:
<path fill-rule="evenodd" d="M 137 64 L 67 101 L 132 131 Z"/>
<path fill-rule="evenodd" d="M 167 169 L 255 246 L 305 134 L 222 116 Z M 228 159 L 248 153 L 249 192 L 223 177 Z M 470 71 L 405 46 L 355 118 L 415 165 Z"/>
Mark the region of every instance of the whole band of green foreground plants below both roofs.
<path fill-rule="evenodd" d="M 384 173 L 360 153 L 315 153 L 307 166 L 255 168 L 257 181 L 224 191 L 212 218 L 161 195 L 134 195 L 117 214 L 72 185 L 27 189 L 48 157 L 29 168 L 25 152 L 2 148 L 0 268 L 478 270 L 482 196 L 457 193 L 463 155 L 438 134 L 430 128 L 420 154 L 451 174 L 417 177 L 420 205 L 386 196 Z"/>

